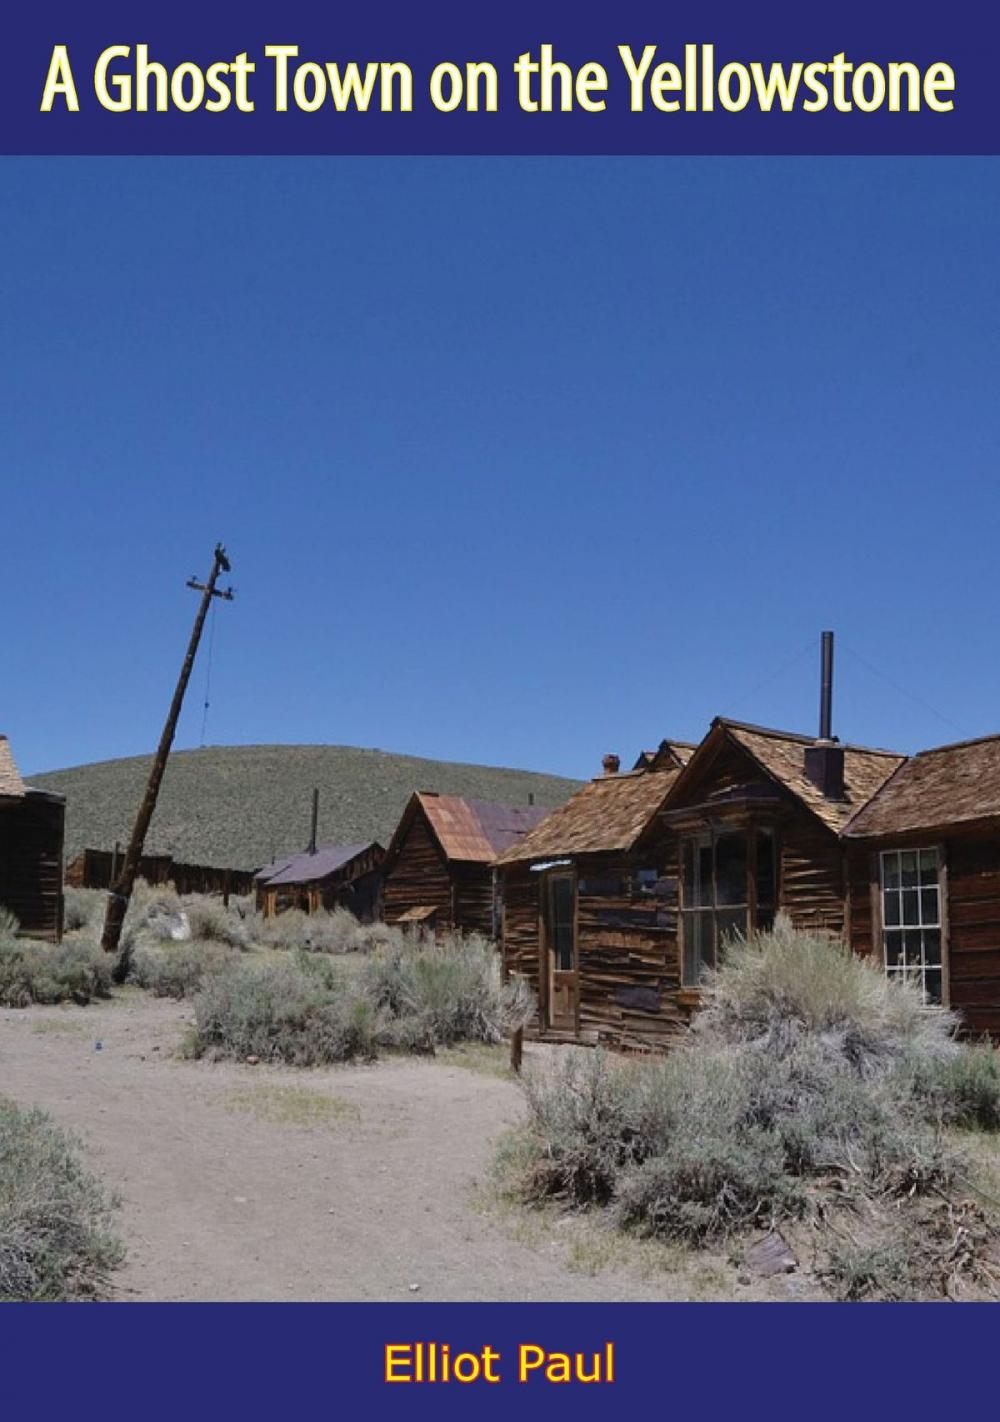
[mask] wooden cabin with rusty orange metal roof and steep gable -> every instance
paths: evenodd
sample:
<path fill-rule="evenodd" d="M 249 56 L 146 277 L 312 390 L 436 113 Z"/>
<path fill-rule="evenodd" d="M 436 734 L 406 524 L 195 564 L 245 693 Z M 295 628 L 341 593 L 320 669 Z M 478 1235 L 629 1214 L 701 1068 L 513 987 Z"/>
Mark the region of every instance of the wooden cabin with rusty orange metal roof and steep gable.
<path fill-rule="evenodd" d="M 496 937 L 494 860 L 548 813 L 418 791 L 385 852 L 385 923 Z"/>

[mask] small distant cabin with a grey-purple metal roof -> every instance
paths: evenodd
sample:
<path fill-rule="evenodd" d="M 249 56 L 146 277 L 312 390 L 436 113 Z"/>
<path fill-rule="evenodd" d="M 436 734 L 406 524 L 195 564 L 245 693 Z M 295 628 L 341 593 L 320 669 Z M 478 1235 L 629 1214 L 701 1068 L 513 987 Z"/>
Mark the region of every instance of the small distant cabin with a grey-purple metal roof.
<path fill-rule="evenodd" d="M 317 913 L 340 907 L 350 909 L 361 923 L 371 923 L 381 907 L 384 859 L 385 850 L 376 840 L 317 845 L 255 876 L 257 909 L 273 919 L 284 909 Z"/>

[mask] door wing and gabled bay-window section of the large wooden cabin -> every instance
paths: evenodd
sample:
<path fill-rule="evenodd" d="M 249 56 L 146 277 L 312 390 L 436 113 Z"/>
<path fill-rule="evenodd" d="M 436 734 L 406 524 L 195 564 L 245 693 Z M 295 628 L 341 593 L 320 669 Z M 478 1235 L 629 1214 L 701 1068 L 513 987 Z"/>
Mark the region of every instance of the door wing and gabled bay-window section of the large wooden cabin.
<path fill-rule="evenodd" d="M 643 762 L 499 860 L 505 964 L 536 988 L 545 1034 L 666 1047 L 728 936 L 778 909 L 844 931 L 841 833 L 903 757 L 717 718 L 693 752 L 666 742 Z"/>

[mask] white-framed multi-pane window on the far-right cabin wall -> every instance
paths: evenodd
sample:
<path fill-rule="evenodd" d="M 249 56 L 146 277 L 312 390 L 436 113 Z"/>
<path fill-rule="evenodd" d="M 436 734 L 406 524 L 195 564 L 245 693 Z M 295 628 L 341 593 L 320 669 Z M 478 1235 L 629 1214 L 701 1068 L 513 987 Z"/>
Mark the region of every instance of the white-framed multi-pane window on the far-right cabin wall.
<path fill-rule="evenodd" d="M 885 970 L 916 983 L 925 1003 L 940 1003 L 940 856 L 936 849 L 888 849 L 881 862 Z"/>

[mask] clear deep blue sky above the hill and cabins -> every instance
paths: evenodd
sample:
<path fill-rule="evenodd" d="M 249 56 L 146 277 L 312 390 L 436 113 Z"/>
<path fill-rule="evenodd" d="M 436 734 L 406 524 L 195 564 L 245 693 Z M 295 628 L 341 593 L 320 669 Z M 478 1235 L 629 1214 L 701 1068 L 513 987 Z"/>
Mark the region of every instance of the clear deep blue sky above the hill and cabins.
<path fill-rule="evenodd" d="M 1000 731 L 1000 161 L 0 165 L 0 729 L 589 775 Z M 205 661 L 179 747 L 202 732 Z M 946 718 L 946 720 L 945 720 Z"/>

